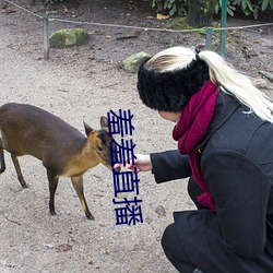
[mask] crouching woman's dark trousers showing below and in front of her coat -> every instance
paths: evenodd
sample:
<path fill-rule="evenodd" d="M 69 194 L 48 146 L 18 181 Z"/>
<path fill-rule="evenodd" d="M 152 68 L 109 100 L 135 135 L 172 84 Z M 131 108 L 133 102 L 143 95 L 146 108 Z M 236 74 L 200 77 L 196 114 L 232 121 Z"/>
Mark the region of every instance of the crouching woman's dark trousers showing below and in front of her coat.
<path fill-rule="evenodd" d="M 197 185 L 194 179 L 191 177 L 188 183 L 188 192 L 198 210 L 205 209 L 197 201 L 197 197 L 203 193 L 202 189 Z M 175 224 L 170 224 L 165 229 L 162 237 L 162 247 L 168 260 L 173 263 L 173 265 L 179 271 L 183 273 L 192 273 L 197 266 L 191 263 L 189 257 L 187 257 L 183 247 L 179 242 L 179 238 L 175 230 Z"/>

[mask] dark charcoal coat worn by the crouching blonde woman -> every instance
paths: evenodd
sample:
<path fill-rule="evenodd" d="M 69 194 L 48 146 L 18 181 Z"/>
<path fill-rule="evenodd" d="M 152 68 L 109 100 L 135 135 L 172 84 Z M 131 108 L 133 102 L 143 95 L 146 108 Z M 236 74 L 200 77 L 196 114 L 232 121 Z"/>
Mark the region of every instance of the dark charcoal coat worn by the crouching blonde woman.
<path fill-rule="evenodd" d="M 197 147 L 217 212 L 175 212 L 180 242 L 207 273 L 273 272 L 273 124 L 219 93 Z M 157 182 L 191 176 L 178 151 L 151 154 Z"/>

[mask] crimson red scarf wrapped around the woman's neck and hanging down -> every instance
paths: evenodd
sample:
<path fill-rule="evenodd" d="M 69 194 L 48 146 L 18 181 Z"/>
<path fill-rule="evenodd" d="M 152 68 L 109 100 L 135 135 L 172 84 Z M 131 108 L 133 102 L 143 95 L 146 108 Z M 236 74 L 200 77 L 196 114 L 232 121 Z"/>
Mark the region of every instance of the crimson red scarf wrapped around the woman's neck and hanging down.
<path fill-rule="evenodd" d="M 202 175 L 195 147 L 205 136 L 212 121 L 217 94 L 218 87 L 209 80 L 190 98 L 173 131 L 174 140 L 178 141 L 179 152 L 189 155 L 192 176 L 204 190 L 204 193 L 198 197 L 198 201 L 213 212 L 216 212 L 216 204 Z"/>

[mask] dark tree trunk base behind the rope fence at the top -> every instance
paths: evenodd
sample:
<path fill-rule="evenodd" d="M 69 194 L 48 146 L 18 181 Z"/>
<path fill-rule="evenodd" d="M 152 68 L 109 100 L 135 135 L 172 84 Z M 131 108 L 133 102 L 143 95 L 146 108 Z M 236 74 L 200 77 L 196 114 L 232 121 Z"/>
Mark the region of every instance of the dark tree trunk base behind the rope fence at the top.
<path fill-rule="evenodd" d="M 189 0 L 187 24 L 194 27 L 210 26 L 216 0 Z"/>

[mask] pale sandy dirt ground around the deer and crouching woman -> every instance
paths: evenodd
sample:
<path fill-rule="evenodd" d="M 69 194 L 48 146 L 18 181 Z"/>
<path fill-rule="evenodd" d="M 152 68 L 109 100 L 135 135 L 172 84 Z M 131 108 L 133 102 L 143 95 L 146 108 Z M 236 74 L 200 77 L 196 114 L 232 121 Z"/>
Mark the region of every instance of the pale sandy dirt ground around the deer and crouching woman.
<path fill-rule="evenodd" d="M 86 19 L 84 11 L 88 11 L 88 19 L 96 22 L 104 17 L 109 23 L 163 26 L 164 23 L 151 20 L 151 10 L 144 14 L 139 5 L 131 9 L 132 2 L 143 1 L 117 1 L 112 13 L 107 13 L 107 1 L 99 0 L 90 11 L 86 5 L 72 8 L 78 20 Z M 40 14 L 44 12 L 40 7 L 28 8 Z M 126 17 L 126 12 L 131 15 Z M 56 23 L 50 27 L 54 31 L 66 26 Z M 166 34 L 158 38 L 155 33 L 136 33 L 139 38 L 122 40 L 117 37 L 132 32 L 107 27 L 90 27 L 90 31 L 94 35 L 88 45 L 51 50 L 50 60 L 46 62 L 40 20 L 13 8 L 0 10 L 1 105 L 8 102 L 34 104 L 81 131 L 83 120 L 98 128 L 102 115 L 130 109 L 134 115 L 132 138 L 136 153 L 175 149 L 170 138 L 173 124 L 141 104 L 135 92 L 135 75 L 126 73 L 118 62 L 141 50 L 153 54 L 170 44 L 193 45 L 200 37 Z M 239 69 L 247 68 L 252 76 L 259 76 L 259 69 L 272 72 L 272 31 L 263 34 L 257 44 L 238 43 L 237 48 L 228 49 L 229 59 Z M 239 38 L 241 40 L 241 36 Z M 249 40 L 257 39 L 249 37 Z M 266 92 L 272 90 L 266 88 Z M 8 154 L 5 158 L 8 169 L 0 177 L 1 272 L 176 272 L 163 253 L 161 236 L 173 222 L 173 211 L 192 209 L 186 181 L 157 186 L 151 174 L 141 174 L 139 198 L 143 200 L 143 223 L 116 225 L 112 175 L 97 166 L 84 176 L 85 197 L 95 222 L 85 218 L 68 179 L 59 183 L 58 215 L 52 217 L 48 213 L 48 183 L 41 164 L 31 157 L 21 159 L 29 185 L 22 190 Z"/>

